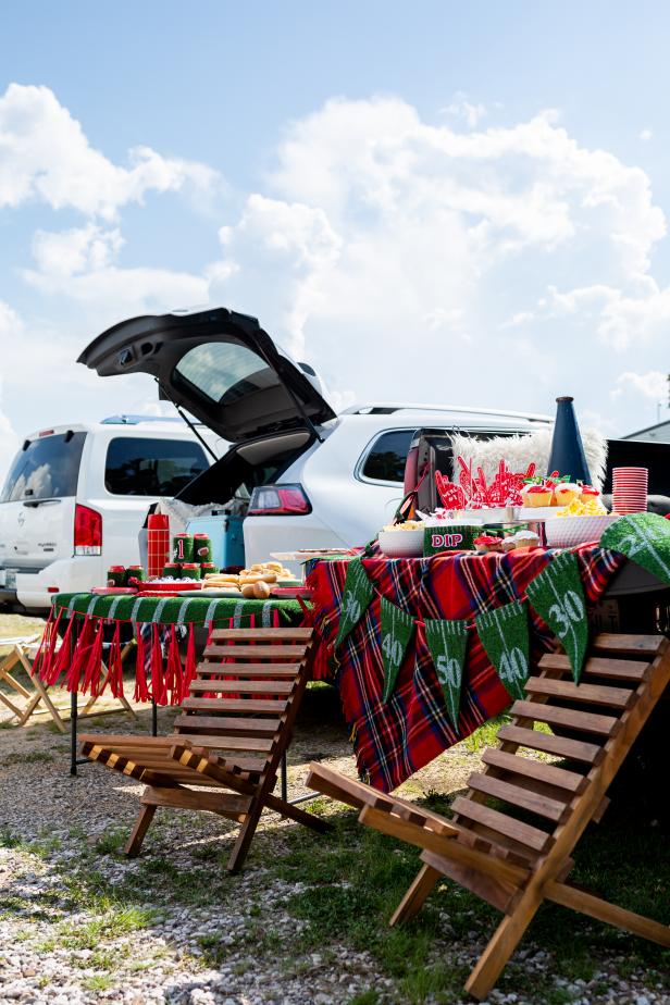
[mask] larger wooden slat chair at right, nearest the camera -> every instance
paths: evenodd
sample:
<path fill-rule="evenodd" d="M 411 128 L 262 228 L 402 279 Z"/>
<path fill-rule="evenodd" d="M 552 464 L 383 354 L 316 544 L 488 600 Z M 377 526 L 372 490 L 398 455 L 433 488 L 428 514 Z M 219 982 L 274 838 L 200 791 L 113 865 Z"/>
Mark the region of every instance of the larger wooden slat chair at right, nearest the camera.
<path fill-rule="evenodd" d="M 670 946 L 669 927 L 567 882 L 576 842 L 600 819 L 605 793 L 669 682 L 670 643 L 658 635 L 598 635 L 579 684 L 566 656 L 544 656 L 498 733 L 500 747 L 484 752 L 484 770 L 455 799 L 450 820 L 322 765 L 311 766 L 308 785 L 360 809 L 361 823 L 422 848 L 423 866 L 392 925 L 413 917 L 443 876 L 505 914 L 466 983 L 476 998 L 488 994 L 543 901 Z"/>

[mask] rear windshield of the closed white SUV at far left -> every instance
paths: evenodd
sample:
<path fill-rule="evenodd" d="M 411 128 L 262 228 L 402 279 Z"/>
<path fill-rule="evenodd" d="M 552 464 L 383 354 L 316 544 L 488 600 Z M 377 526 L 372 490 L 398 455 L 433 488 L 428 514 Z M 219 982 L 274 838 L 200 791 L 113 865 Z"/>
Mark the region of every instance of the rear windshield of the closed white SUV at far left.
<path fill-rule="evenodd" d="M 86 433 L 26 441 L 5 479 L 0 502 L 76 496 Z"/>

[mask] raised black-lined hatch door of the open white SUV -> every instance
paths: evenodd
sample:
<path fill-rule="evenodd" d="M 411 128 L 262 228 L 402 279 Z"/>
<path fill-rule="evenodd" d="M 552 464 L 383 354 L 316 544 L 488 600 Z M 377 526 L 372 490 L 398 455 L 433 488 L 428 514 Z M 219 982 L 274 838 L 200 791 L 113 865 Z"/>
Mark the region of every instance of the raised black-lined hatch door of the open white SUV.
<path fill-rule="evenodd" d="M 223 307 L 146 314 L 108 328 L 78 359 L 100 376 L 150 373 L 160 395 L 224 439 L 314 427 L 335 412 L 256 318 Z"/>

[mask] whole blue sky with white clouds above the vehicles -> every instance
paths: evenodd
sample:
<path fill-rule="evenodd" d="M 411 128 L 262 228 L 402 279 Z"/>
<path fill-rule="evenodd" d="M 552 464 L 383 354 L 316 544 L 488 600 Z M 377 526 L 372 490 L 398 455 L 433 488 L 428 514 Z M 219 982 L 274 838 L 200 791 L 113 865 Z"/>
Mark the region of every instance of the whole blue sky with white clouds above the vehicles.
<path fill-rule="evenodd" d="M 5 0 L 0 468 L 40 425 L 153 406 L 74 359 L 207 300 L 339 405 L 573 394 L 609 434 L 653 423 L 669 41 L 661 2 Z"/>

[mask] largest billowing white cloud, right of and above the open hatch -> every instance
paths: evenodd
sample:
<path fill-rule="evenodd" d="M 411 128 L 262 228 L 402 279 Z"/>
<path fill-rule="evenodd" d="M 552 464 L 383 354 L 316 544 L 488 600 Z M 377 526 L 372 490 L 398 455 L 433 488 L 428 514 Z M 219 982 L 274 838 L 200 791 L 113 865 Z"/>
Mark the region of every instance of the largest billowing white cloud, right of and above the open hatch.
<path fill-rule="evenodd" d="M 573 392 L 607 422 L 641 328 L 657 351 L 649 179 L 554 111 L 462 132 L 334 99 L 287 129 L 269 190 L 220 232 L 213 296 L 361 398 L 551 411 Z"/>

